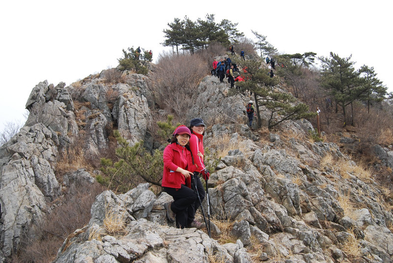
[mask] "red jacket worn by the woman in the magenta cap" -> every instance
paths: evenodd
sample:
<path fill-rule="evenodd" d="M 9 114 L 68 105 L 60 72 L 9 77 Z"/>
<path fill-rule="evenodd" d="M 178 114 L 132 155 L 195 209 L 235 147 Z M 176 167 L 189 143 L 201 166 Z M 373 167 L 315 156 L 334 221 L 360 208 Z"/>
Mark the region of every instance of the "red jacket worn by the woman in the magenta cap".
<path fill-rule="evenodd" d="M 161 185 L 179 189 L 185 184 L 191 188 L 191 177 L 186 182 L 184 175 L 176 172 L 177 167 L 190 172 L 196 170 L 190 151 L 177 143 L 171 143 L 164 149 L 164 174 Z"/>

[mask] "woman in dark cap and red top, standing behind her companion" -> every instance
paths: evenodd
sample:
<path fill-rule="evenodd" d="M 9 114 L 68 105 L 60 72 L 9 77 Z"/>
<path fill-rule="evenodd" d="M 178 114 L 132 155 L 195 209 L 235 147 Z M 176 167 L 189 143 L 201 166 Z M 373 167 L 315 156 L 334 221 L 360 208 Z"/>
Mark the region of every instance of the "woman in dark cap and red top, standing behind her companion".
<path fill-rule="evenodd" d="M 203 135 L 205 134 L 205 124 L 203 123 L 203 120 L 201 118 L 194 118 L 190 121 L 190 130 L 191 130 L 191 137 L 190 137 L 190 151 L 192 153 L 192 156 L 194 157 L 194 163 L 195 165 L 193 166 L 193 169 L 191 171 L 193 172 L 198 172 L 202 175 L 204 180 L 209 179 L 209 172 L 205 168 L 204 162 L 203 162 L 203 155 L 205 154 L 204 149 L 203 149 Z M 203 199 L 205 198 L 205 190 L 203 189 L 203 185 L 200 182 L 200 179 L 198 176 L 195 176 L 195 180 L 197 182 L 197 191 L 199 193 L 200 201 L 202 202 Z M 194 182 L 192 182 L 194 184 Z M 193 185 L 194 187 L 194 185 Z M 198 208 L 200 206 L 199 200 L 196 200 L 194 204 L 194 214 L 197 212 Z M 199 227 L 199 222 L 193 219 L 193 225 L 194 227 Z M 203 224 L 201 224 L 203 227 Z"/>

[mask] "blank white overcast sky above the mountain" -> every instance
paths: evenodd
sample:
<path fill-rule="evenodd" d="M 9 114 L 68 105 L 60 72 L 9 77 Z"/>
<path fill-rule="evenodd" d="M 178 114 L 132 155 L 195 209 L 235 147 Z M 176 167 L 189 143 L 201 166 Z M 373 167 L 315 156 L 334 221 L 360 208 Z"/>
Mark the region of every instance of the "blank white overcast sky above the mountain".
<path fill-rule="evenodd" d="M 229 1 L 230 2 L 230 1 Z M 392 8 L 387 0 L 281 1 L 19 0 L 0 4 L 0 132 L 24 121 L 32 88 L 45 79 L 66 85 L 117 66 L 122 49 L 164 50 L 163 29 L 175 17 L 215 14 L 249 38 L 266 35 L 281 53 L 352 54 L 374 67 L 393 91 Z M 390 33 L 389 33 L 390 32 Z"/>

